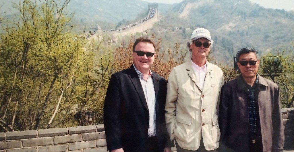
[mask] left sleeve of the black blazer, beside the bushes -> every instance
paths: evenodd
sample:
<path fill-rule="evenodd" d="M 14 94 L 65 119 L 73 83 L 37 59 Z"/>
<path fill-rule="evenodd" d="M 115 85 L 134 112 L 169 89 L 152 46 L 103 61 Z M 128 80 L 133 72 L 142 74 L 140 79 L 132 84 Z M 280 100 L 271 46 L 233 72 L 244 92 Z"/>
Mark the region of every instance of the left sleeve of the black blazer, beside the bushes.
<path fill-rule="evenodd" d="M 103 105 L 103 119 L 106 134 L 107 150 L 122 148 L 119 120 L 120 90 L 119 81 L 115 74 L 110 78 Z"/>

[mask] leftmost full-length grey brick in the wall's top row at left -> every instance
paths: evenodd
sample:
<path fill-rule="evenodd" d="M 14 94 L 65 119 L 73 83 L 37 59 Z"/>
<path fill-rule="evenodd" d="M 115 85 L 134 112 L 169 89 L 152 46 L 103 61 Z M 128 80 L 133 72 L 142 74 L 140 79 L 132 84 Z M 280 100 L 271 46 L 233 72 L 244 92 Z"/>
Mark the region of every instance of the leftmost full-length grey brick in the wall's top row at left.
<path fill-rule="evenodd" d="M 30 139 L 30 138 L 37 138 L 37 137 L 38 137 L 38 131 L 36 130 L 6 132 L 6 140 Z"/>

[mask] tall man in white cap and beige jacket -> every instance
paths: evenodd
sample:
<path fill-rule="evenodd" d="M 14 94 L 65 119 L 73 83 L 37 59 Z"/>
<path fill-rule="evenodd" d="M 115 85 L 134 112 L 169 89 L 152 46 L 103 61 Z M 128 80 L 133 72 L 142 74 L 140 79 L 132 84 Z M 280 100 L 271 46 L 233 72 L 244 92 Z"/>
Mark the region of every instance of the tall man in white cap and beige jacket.
<path fill-rule="evenodd" d="M 223 71 L 206 59 L 212 43 L 207 29 L 194 30 L 188 42 L 191 60 L 174 67 L 168 78 L 166 125 L 177 152 L 214 152 L 219 147 Z"/>

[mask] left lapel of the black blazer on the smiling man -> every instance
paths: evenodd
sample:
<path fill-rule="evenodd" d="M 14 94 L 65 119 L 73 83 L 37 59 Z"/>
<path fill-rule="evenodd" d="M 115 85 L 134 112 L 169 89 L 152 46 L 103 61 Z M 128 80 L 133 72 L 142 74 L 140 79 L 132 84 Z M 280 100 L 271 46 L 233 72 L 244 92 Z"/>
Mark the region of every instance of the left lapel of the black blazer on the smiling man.
<path fill-rule="evenodd" d="M 141 99 L 141 102 L 143 103 L 144 107 L 148 110 L 148 105 L 147 105 L 147 101 L 143 92 L 143 88 L 139 79 L 139 76 L 135 70 L 135 68 L 133 67 L 133 65 L 131 65 L 130 69 L 130 75 L 129 78 L 131 79 L 135 89 L 137 90 L 137 93 Z"/>

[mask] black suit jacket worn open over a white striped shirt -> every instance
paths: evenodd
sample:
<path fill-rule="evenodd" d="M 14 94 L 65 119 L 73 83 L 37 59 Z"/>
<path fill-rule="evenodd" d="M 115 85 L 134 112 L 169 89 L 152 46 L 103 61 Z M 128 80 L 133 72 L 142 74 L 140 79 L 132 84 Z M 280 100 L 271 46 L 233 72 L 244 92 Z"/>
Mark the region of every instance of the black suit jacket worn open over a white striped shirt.
<path fill-rule="evenodd" d="M 162 150 L 171 144 L 165 124 L 166 80 L 152 72 L 156 96 L 156 137 Z M 107 150 L 145 151 L 149 111 L 133 65 L 110 78 L 103 106 Z"/>

